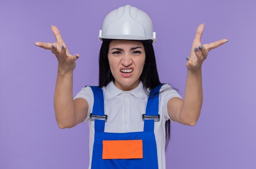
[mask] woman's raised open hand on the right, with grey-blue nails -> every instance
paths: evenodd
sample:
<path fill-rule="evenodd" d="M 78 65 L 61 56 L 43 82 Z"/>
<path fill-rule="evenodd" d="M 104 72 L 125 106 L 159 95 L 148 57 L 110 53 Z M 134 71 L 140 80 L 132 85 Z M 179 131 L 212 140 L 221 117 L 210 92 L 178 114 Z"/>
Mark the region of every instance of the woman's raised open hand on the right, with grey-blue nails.
<path fill-rule="evenodd" d="M 193 72 L 198 72 L 202 68 L 202 63 L 207 58 L 211 49 L 219 47 L 220 45 L 228 42 L 227 39 L 218 40 L 209 44 L 201 44 L 201 37 L 204 30 L 204 24 L 200 24 L 196 29 L 195 39 L 193 40 L 190 56 L 186 60 L 186 68 Z"/>

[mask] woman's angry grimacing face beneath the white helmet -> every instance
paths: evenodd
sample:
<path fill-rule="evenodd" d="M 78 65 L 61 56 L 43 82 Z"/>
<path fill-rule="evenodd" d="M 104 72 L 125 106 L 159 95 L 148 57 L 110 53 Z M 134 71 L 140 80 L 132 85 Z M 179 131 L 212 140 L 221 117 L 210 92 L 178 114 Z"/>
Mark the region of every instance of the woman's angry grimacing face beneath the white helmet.
<path fill-rule="evenodd" d="M 142 42 L 112 40 L 108 48 L 110 70 L 114 84 L 121 90 L 132 90 L 139 85 L 146 54 Z"/>

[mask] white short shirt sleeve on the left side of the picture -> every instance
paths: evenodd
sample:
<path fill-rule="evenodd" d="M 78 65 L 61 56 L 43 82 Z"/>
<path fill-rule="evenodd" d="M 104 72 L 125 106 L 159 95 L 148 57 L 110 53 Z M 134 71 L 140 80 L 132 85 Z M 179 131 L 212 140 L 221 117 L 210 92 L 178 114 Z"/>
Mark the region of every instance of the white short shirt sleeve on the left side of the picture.
<path fill-rule="evenodd" d="M 88 105 L 89 105 L 88 106 L 88 113 L 87 113 L 87 117 L 84 120 L 84 121 L 88 121 L 88 119 L 90 117 L 90 113 L 92 112 L 92 105 L 93 105 L 93 102 L 94 102 L 94 96 L 93 96 L 92 89 L 89 86 L 86 86 L 86 87 L 82 88 L 81 91 L 79 91 L 76 94 L 76 96 L 74 97 L 73 100 L 75 100 L 76 98 L 83 98 L 88 102 Z"/>

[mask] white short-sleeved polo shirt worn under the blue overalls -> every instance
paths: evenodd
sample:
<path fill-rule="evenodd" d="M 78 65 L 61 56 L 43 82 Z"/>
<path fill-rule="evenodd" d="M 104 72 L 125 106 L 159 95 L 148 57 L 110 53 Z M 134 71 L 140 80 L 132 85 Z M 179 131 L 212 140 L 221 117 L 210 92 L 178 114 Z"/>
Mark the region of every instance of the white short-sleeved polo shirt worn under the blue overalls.
<path fill-rule="evenodd" d="M 168 87 L 171 86 L 164 84 L 161 87 L 160 92 Z M 127 133 L 143 131 L 144 122 L 142 121 L 142 114 L 146 113 L 148 95 L 143 89 L 142 82 L 140 82 L 135 89 L 122 91 L 114 85 L 113 81 L 111 81 L 106 87 L 103 87 L 103 93 L 105 114 L 108 115 L 108 121 L 105 123 L 105 132 Z M 181 98 L 175 89 L 164 91 L 159 95 L 160 121 L 155 122 L 154 128 L 159 169 L 165 169 L 165 122 L 170 119 L 167 112 L 167 102 L 173 97 Z M 90 169 L 94 143 L 94 121 L 89 120 L 89 115 L 92 113 L 94 103 L 92 89 L 90 87 L 82 88 L 74 99 L 76 98 L 84 98 L 89 105 L 85 121 L 88 122 L 90 129 Z"/>

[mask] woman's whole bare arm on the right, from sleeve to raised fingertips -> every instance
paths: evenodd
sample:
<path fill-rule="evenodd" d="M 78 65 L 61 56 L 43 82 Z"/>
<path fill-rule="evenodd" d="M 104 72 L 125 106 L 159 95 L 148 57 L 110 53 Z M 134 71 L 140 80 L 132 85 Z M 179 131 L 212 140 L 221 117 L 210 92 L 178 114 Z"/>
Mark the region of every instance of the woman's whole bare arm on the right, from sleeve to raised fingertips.
<path fill-rule="evenodd" d="M 201 45 L 201 36 L 204 24 L 196 30 L 195 39 L 191 47 L 190 58 L 187 58 L 188 69 L 184 101 L 180 98 L 171 98 L 167 103 L 170 118 L 183 125 L 194 126 L 200 116 L 203 91 L 202 91 L 202 63 L 207 58 L 208 52 L 225 42 L 227 39 L 218 40 L 210 44 Z"/>

